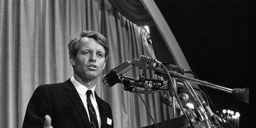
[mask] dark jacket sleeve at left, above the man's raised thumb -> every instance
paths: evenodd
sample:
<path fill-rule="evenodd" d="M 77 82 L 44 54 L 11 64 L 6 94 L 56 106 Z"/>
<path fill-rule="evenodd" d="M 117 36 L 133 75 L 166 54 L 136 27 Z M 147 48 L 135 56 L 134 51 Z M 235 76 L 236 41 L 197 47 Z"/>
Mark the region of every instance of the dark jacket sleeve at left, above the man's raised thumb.
<path fill-rule="evenodd" d="M 49 85 L 40 85 L 34 91 L 24 117 L 22 128 L 43 128 L 45 115 L 51 116 L 51 98 Z"/>

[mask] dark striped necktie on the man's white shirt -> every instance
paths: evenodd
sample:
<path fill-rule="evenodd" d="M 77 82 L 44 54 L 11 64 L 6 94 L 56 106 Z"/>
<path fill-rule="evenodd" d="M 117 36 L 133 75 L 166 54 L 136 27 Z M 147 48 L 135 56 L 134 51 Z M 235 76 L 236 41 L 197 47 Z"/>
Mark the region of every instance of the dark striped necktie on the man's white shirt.
<path fill-rule="evenodd" d="M 92 93 L 92 90 L 87 90 L 87 92 L 86 92 L 86 95 L 87 95 L 87 107 L 88 107 L 89 116 L 90 116 L 90 120 L 91 120 L 90 123 L 91 123 L 92 128 L 99 128 L 98 120 L 97 120 L 97 115 L 96 115 L 96 112 L 94 110 L 94 107 L 92 106 L 91 93 Z"/>

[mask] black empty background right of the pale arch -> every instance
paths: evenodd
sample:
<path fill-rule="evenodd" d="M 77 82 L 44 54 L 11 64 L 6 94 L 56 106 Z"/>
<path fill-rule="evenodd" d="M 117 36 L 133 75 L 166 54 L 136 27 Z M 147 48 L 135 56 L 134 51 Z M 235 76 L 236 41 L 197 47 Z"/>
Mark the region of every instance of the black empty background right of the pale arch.
<path fill-rule="evenodd" d="M 255 4 L 250 0 L 154 0 L 190 68 L 200 80 L 227 88 L 256 86 Z M 256 105 L 204 87 L 217 110 L 240 113 L 240 128 L 252 128 Z M 216 110 L 211 105 L 210 108 Z"/>

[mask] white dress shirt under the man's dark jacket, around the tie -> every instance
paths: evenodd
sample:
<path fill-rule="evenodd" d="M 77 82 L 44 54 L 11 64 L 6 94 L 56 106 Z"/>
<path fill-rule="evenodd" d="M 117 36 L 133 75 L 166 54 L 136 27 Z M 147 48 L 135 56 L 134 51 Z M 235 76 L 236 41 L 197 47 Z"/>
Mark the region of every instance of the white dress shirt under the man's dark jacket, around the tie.
<path fill-rule="evenodd" d="M 89 90 L 88 88 L 86 88 L 85 86 L 83 86 L 82 84 L 80 84 L 75 78 L 74 76 L 71 77 L 71 82 L 74 84 L 83 104 L 84 104 L 84 108 L 86 109 L 89 121 L 90 121 L 90 116 L 89 116 L 89 111 L 88 111 L 88 107 L 87 107 L 87 96 L 86 96 L 86 92 L 87 90 Z M 92 105 L 95 109 L 96 115 L 97 115 L 97 120 L 98 120 L 98 124 L 99 124 L 99 128 L 101 127 L 101 120 L 100 120 L 100 111 L 98 108 L 98 104 L 96 102 L 96 98 L 94 95 L 94 90 L 95 90 L 95 85 L 93 88 L 91 88 L 90 90 L 92 90 L 92 94 L 91 94 L 91 101 L 92 101 Z"/>

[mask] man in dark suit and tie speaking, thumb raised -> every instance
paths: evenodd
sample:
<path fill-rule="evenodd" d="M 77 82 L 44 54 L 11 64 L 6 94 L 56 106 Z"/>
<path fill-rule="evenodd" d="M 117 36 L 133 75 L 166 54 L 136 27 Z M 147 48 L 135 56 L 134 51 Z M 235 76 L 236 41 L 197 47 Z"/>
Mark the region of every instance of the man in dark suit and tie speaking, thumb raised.
<path fill-rule="evenodd" d="M 114 128 L 110 105 L 94 91 L 108 58 L 106 38 L 83 31 L 70 38 L 68 50 L 74 75 L 36 88 L 22 128 Z"/>

